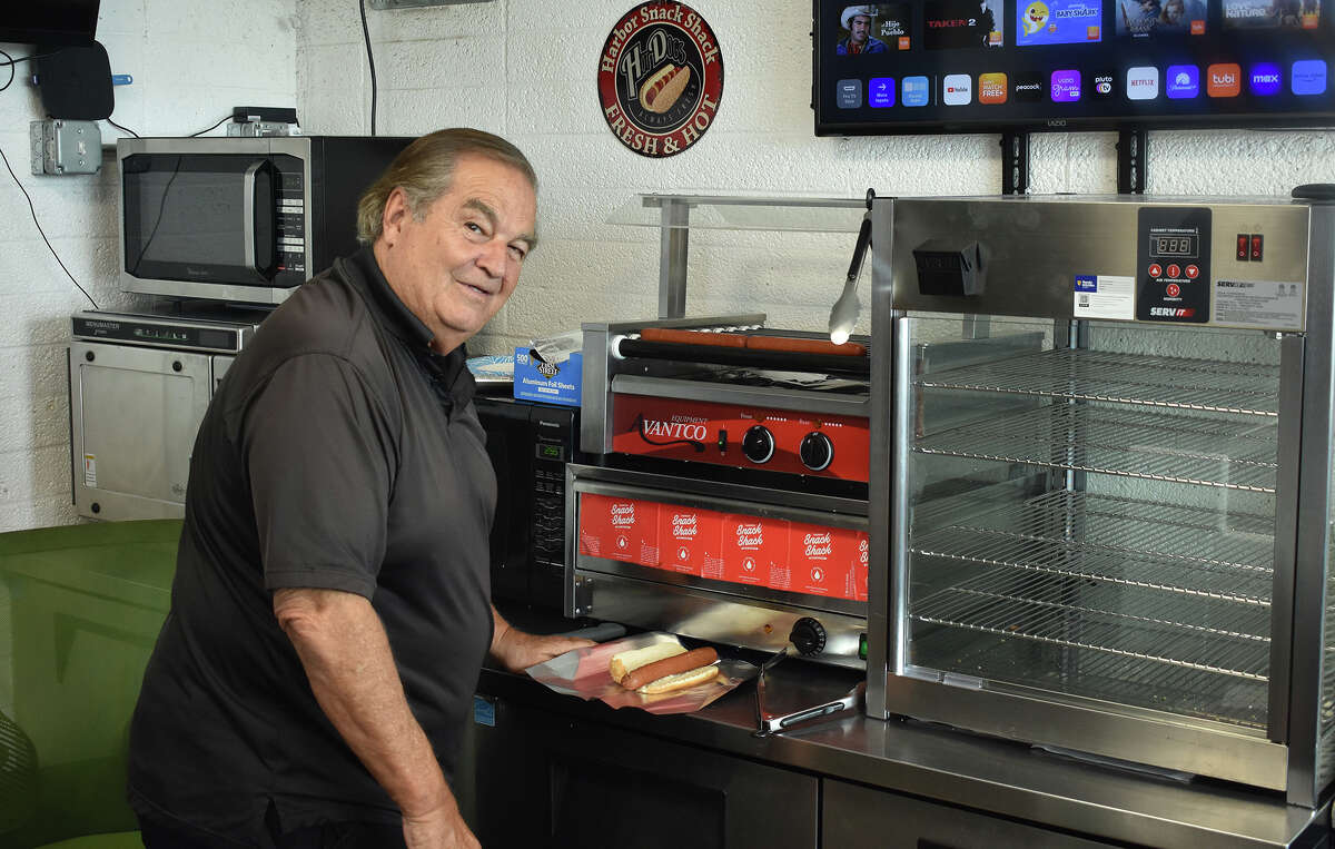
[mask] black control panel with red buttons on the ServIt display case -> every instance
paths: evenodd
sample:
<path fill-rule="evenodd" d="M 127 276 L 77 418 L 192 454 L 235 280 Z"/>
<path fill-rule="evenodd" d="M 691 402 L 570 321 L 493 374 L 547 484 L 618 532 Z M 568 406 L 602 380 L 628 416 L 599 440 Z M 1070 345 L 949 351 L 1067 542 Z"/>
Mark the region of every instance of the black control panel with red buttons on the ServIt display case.
<path fill-rule="evenodd" d="M 1210 322 L 1210 210 L 1141 207 L 1136 226 L 1136 318 Z"/>

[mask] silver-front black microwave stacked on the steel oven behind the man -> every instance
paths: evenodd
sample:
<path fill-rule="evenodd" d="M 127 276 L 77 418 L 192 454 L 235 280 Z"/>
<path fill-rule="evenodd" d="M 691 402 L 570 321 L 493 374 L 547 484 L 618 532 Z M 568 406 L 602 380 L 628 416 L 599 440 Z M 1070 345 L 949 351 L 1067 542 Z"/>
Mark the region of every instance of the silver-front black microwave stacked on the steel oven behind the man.
<path fill-rule="evenodd" d="M 117 139 L 127 292 L 280 303 L 356 250 L 356 202 L 413 139 Z"/>

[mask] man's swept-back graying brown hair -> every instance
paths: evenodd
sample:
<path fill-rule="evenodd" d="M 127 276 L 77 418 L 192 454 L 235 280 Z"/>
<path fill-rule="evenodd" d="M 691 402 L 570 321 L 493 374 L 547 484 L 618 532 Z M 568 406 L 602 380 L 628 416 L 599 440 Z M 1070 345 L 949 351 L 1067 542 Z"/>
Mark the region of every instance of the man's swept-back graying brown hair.
<path fill-rule="evenodd" d="M 384 174 L 362 194 L 356 202 L 356 240 L 371 244 L 380 238 L 384 203 L 395 188 L 403 188 L 414 219 L 421 222 L 426 218 L 431 204 L 450 191 L 459 156 L 469 154 L 514 167 L 529 180 L 533 191 L 538 191 L 538 175 L 527 158 L 501 136 L 458 127 L 437 129 L 403 148 Z"/>

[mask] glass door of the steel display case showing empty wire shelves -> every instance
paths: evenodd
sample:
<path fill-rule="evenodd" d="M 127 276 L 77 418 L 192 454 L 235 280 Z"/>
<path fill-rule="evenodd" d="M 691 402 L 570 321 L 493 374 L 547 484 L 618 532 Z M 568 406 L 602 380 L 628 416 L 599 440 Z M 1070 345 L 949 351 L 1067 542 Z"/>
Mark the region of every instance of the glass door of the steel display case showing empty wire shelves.
<path fill-rule="evenodd" d="M 897 674 L 1272 730 L 1283 336 L 900 326 Z"/>

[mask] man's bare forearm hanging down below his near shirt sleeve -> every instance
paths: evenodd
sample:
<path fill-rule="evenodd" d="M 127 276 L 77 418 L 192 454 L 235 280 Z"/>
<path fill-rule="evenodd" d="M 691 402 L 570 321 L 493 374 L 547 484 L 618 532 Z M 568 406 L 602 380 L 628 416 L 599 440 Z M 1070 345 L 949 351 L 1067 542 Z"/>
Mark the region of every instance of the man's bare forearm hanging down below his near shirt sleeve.
<path fill-rule="evenodd" d="M 384 626 L 360 595 L 279 590 L 274 613 L 320 709 L 406 816 L 453 808 L 430 741 L 409 709 Z"/>

